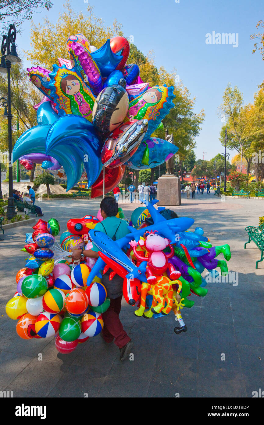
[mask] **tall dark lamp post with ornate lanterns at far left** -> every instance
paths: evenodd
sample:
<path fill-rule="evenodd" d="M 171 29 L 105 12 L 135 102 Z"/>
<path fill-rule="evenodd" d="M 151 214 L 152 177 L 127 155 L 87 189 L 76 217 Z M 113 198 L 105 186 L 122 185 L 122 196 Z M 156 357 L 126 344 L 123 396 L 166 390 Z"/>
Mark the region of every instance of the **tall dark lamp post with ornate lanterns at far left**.
<path fill-rule="evenodd" d="M 17 31 L 15 24 L 9 25 L 8 35 L 3 34 L 3 40 L 1 45 L 1 64 L 0 72 L 6 74 L 7 72 L 7 107 L 8 107 L 8 206 L 6 211 L 6 217 L 8 219 L 14 217 L 16 214 L 13 198 L 13 152 L 12 152 L 12 114 L 11 114 L 11 82 L 10 82 L 10 69 L 11 65 L 21 62 L 21 59 L 17 56 L 16 41 Z"/>

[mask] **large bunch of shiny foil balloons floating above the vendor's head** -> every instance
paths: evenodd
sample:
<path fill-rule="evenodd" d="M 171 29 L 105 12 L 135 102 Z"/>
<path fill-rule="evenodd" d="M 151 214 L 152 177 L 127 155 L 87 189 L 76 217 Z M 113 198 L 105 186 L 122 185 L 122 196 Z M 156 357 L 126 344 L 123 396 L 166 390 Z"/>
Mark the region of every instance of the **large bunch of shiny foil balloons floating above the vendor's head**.
<path fill-rule="evenodd" d="M 112 190 L 125 167 L 156 167 L 178 148 L 155 137 L 162 119 L 174 107 L 174 88 L 149 87 L 138 65 L 127 63 L 130 45 L 124 37 L 100 48 L 83 34 L 67 40 L 69 58 L 58 58 L 53 70 L 27 68 L 30 81 L 44 95 L 34 106 L 38 125 L 17 140 L 13 159 L 30 170 L 41 164 L 67 180 L 67 190 L 87 178 L 92 197 Z"/>

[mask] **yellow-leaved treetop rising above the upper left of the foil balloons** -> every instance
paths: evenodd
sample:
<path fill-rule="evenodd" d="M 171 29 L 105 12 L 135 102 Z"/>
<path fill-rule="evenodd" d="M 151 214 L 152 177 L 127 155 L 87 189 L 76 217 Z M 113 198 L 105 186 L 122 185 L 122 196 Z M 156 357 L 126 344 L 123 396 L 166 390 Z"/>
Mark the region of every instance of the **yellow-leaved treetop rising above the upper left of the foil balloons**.
<path fill-rule="evenodd" d="M 47 17 L 43 24 L 36 26 L 33 23 L 31 42 L 33 49 L 27 51 L 28 59 L 33 65 L 41 64 L 52 70 L 54 63 L 58 64 L 58 57 L 69 58 L 66 42 L 70 35 L 84 34 L 91 45 L 99 48 L 108 38 L 123 35 L 122 25 L 115 20 L 112 27 L 106 27 L 104 21 L 93 13 L 94 6 L 88 5 L 87 15 L 77 13 L 67 1 L 65 11 L 59 13 L 58 21 L 54 24 Z"/>

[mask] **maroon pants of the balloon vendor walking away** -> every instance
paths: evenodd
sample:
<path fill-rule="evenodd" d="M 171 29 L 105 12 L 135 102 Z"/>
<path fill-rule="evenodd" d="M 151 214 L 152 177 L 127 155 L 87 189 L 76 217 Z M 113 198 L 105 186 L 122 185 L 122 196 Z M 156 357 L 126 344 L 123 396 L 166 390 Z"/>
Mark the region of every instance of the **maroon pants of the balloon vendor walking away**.
<path fill-rule="evenodd" d="M 111 343 L 114 340 L 114 343 L 118 348 L 123 348 L 131 338 L 124 331 L 122 323 L 119 319 L 119 313 L 121 310 L 121 297 L 111 299 L 110 307 L 103 313 L 103 330 L 102 335 L 106 343 Z"/>

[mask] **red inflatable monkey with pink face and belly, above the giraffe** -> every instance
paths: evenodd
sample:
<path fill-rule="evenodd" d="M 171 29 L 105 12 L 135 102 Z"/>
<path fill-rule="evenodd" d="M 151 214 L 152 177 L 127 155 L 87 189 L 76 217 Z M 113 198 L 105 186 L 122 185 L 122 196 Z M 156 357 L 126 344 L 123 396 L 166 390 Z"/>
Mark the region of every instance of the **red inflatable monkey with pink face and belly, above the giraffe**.
<path fill-rule="evenodd" d="M 133 247 L 133 256 L 137 261 L 147 261 L 147 282 L 154 284 L 157 282 L 157 276 L 161 276 L 164 272 L 169 269 L 169 277 L 171 280 L 176 280 L 181 276 L 175 267 L 168 262 L 168 258 L 172 258 L 174 255 L 173 246 L 167 238 L 162 238 L 160 235 L 155 234 L 156 230 L 146 232 L 146 239 L 139 239 L 138 242 L 129 242 L 130 246 Z M 142 250 L 137 251 L 136 247 L 140 246 Z M 170 248 L 170 252 L 163 252 L 167 246 Z M 145 251 L 145 252 L 144 252 Z M 147 255 L 146 255 L 147 254 Z"/>

